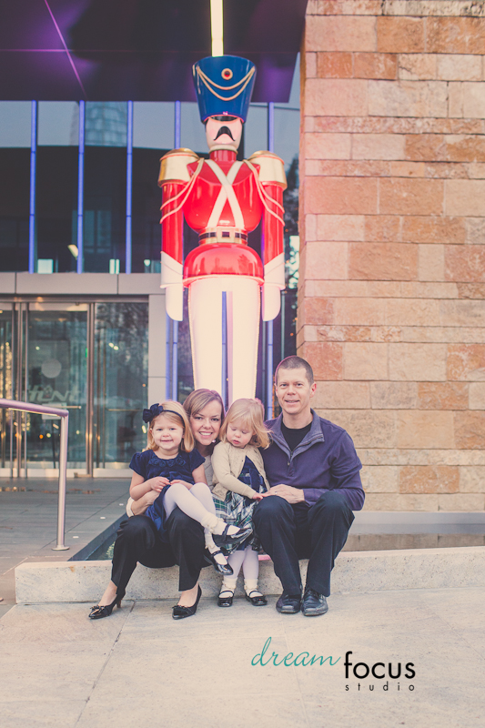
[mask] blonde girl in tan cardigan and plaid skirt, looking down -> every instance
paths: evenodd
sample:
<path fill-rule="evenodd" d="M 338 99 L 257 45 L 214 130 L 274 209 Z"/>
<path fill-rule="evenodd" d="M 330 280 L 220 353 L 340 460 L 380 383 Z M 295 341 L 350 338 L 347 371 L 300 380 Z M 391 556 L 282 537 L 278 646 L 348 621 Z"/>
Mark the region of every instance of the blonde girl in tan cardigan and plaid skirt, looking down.
<path fill-rule="evenodd" d="M 251 536 L 252 512 L 262 493 L 268 490 L 263 459 L 258 448 L 268 448 L 263 405 L 258 399 L 237 399 L 229 408 L 214 449 L 212 490 L 216 512 L 228 523 L 244 529 L 225 550 L 230 552 L 232 576 L 225 576 L 219 593 L 219 607 L 230 607 L 237 575 L 243 568 L 246 598 L 255 607 L 267 603 L 258 591 L 258 542 Z M 248 536 L 248 529 L 250 529 Z"/>

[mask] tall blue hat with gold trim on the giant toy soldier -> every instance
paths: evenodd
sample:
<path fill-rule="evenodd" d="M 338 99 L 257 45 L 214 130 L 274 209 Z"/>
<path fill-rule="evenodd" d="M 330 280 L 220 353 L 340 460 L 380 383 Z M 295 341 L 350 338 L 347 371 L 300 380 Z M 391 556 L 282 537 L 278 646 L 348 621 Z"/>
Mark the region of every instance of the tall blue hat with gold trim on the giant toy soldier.
<path fill-rule="evenodd" d="M 238 116 L 246 121 L 256 66 L 238 56 L 208 56 L 192 67 L 200 120 Z"/>

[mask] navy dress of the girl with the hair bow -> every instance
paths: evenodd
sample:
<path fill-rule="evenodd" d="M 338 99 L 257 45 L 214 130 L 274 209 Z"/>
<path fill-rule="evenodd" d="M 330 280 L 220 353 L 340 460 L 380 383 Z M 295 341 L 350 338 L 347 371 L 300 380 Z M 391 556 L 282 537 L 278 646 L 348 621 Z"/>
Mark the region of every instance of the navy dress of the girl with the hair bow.
<path fill-rule="evenodd" d="M 192 471 L 202 465 L 205 459 L 196 449 L 191 452 L 179 451 L 176 458 L 162 460 L 158 458 L 153 450 L 136 452 L 130 462 L 131 470 L 141 475 L 144 480 L 151 478 L 167 478 L 167 480 L 185 480 L 194 485 Z M 167 541 L 165 522 L 167 513 L 164 508 L 164 498 L 170 485 L 167 485 L 160 493 L 157 501 L 148 506 L 145 513 L 148 518 L 154 521 L 157 526 L 158 535 L 162 541 Z"/>

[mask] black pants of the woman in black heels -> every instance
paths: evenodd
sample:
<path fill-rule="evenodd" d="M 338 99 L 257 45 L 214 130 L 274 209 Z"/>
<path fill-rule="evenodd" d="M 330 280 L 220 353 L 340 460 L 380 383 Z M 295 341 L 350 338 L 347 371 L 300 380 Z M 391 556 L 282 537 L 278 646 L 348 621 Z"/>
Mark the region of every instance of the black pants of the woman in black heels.
<path fill-rule="evenodd" d="M 178 589 L 187 591 L 196 585 L 204 562 L 204 529 L 179 508 L 175 508 L 167 519 L 168 543 L 161 541 L 155 523 L 147 516 L 133 516 L 123 521 L 117 531 L 113 551 L 111 581 L 117 591 L 126 589 L 126 584 L 141 563 L 151 569 L 178 564 Z"/>

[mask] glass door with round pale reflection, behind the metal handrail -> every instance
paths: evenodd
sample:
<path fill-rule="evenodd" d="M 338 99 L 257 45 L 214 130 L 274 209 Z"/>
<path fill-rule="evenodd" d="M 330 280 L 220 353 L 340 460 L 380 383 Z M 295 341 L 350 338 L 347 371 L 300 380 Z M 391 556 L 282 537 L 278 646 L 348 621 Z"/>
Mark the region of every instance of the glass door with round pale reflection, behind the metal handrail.
<path fill-rule="evenodd" d="M 82 473 L 86 473 L 88 307 L 29 303 L 24 344 L 25 399 L 69 410 L 67 468 Z M 54 475 L 59 465 L 59 428 L 55 416 L 28 415 L 28 470 Z"/>

